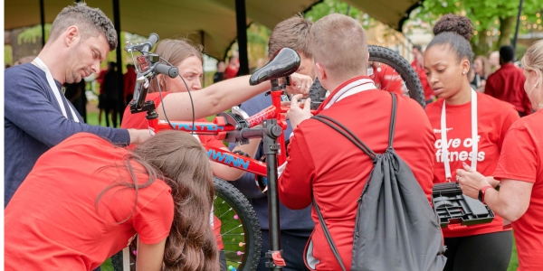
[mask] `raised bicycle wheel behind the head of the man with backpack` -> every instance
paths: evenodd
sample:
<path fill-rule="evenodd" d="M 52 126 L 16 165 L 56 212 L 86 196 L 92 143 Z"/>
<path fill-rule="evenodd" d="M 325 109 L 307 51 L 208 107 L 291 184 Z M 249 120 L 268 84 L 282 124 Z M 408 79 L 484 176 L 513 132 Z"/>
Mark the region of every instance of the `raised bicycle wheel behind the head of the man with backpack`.
<path fill-rule="evenodd" d="M 422 107 L 426 106 L 424 91 L 418 75 L 409 62 L 397 52 L 388 48 L 369 45 L 369 67 L 373 72 L 369 75 L 376 83 L 377 89 L 409 96 Z M 326 89 L 322 88 L 319 79 L 315 79 L 310 89 L 311 109 L 317 109 L 324 101 Z"/>

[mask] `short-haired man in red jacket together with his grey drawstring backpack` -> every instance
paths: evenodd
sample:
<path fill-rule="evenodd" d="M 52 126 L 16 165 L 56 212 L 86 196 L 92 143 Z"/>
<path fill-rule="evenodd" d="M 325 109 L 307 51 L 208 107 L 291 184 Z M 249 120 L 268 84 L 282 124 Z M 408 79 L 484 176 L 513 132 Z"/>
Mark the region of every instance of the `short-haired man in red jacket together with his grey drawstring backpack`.
<path fill-rule="evenodd" d="M 311 270 L 367 270 L 359 265 L 362 259 L 362 266 L 376 266 L 374 270 L 441 270 L 442 235 L 429 202 L 434 135 L 423 107 L 411 98 L 376 89 L 367 77 L 366 34 L 354 19 L 342 14 L 321 18 L 311 27 L 310 50 L 316 75 L 331 93 L 317 110 L 320 121 L 310 118 L 309 98 L 303 108 L 298 105 L 301 96 L 292 98 L 288 113 L 294 129 L 290 156 L 278 182 L 280 200 L 286 207 L 298 210 L 309 206 L 313 198 L 316 202 L 312 209 L 315 229 L 304 253 L 306 266 Z M 346 126 L 371 151 L 361 151 L 358 144 L 323 124 L 322 118 Z M 397 163 L 390 164 L 388 160 Z M 379 164 L 375 169 L 374 161 Z M 394 173 L 384 176 L 383 173 L 391 173 L 386 172 L 390 169 L 411 174 L 410 182 L 397 182 Z M 367 185 L 370 175 L 372 181 Z M 377 182 L 376 176 L 383 177 L 382 182 Z M 390 188 L 390 183 L 394 183 L 394 188 L 388 192 L 401 191 L 401 196 L 379 198 L 381 192 L 386 192 L 381 188 Z M 413 192 L 411 195 L 405 195 L 406 187 Z M 363 190 L 367 192 L 359 206 Z M 402 208 L 396 209 L 389 202 L 397 203 L 402 196 L 408 198 L 409 204 L 416 203 L 405 209 L 409 210 L 406 216 L 395 216 Z M 370 201 L 373 202 L 367 203 Z M 372 215 L 365 217 L 366 214 Z M 414 226 L 408 221 L 410 216 L 421 220 Z M 394 225 L 387 228 L 391 226 L 388 222 L 400 220 L 405 224 L 396 225 L 405 226 L 403 229 Z M 372 227 L 367 222 L 374 223 L 376 228 L 359 227 L 365 223 Z M 420 235 L 409 235 L 404 229 Z M 326 238 L 327 231 L 330 241 Z M 380 242 L 385 239 L 391 242 Z M 425 244 L 414 248 L 408 243 Z M 397 244 L 400 246 L 395 247 Z M 361 251 L 360 246 L 366 246 L 367 250 Z M 405 257 L 406 254 L 413 257 Z"/>

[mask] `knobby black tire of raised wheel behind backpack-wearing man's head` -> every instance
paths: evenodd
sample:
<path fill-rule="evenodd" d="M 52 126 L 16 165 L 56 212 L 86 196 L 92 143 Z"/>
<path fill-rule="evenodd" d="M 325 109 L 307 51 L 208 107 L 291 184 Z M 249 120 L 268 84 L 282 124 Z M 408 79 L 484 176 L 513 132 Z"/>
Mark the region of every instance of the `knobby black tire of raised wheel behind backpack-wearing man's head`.
<path fill-rule="evenodd" d="M 418 75 L 413 70 L 413 67 L 411 67 L 411 64 L 397 52 L 388 48 L 369 45 L 367 49 L 369 51 L 369 61 L 384 63 L 394 69 L 395 72 L 397 72 L 397 77 L 400 77 L 403 80 L 408 96 L 413 98 L 424 108 L 426 102 L 424 99 L 423 86 L 421 85 Z M 387 87 L 381 88 L 386 89 Z M 319 107 L 320 103 L 322 103 L 325 98 L 325 94 L 326 89 L 322 88 L 319 79 L 315 79 L 315 83 L 310 89 L 311 109 L 317 109 L 317 107 Z"/>

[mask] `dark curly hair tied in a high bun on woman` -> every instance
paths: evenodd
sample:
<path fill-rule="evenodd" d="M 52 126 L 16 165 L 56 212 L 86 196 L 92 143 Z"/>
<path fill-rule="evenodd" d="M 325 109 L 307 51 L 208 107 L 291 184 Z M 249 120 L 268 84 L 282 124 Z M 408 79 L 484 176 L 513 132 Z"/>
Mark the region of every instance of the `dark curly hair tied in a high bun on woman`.
<path fill-rule="evenodd" d="M 473 50 L 469 41 L 472 39 L 473 31 L 473 23 L 470 19 L 455 14 L 443 15 L 433 26 L 435 37 L 426 50 L 434 45 L 447 45 L 458 61 L 467 59 L 472 62 Z"/>

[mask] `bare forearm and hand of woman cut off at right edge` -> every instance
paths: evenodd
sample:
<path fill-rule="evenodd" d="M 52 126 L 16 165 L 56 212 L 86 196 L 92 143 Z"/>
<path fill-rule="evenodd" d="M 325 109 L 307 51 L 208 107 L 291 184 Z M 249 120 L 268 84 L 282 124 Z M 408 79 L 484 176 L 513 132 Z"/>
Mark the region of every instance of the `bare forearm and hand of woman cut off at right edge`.
<path fill-rule="evenodd" d="M 464 165 L 464 169 L 457 170 L 456 174 L 462 192 L 473 199 L 478 199 L 481 188 L 491 185 L 486 177 L 470 166 Z M 503 179 L 500 191 L 486 190 L 484 202 L 500 217 L 510 221 L 519 220 L 528 210 L 533 185 L 533 182 Z"/>

